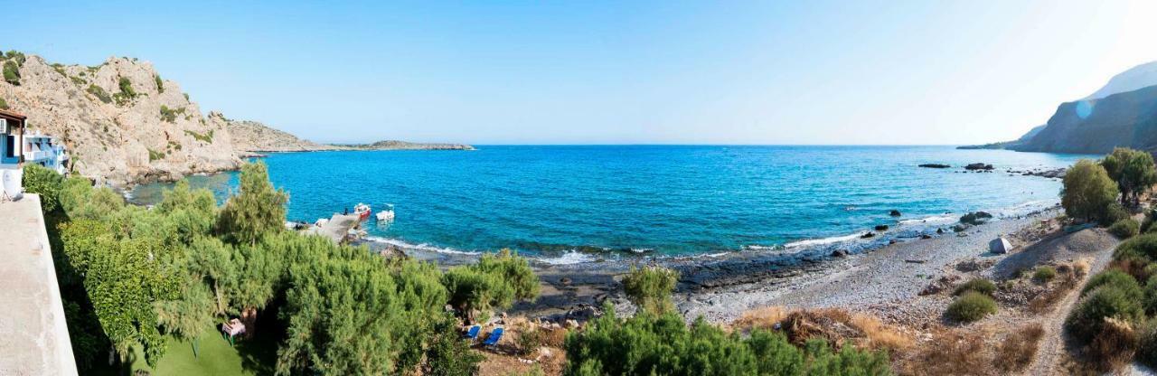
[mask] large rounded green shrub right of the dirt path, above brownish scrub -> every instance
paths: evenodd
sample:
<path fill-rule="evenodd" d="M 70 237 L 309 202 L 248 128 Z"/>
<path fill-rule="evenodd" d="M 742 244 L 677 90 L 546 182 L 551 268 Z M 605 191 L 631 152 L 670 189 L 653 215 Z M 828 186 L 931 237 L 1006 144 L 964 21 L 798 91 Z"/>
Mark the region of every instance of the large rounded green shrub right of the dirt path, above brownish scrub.
<path fill-rule="evenodd" d="M 1128 275 L 1126 275 L 1128 277 Z M 1129 278 L 1133 281 L 1133 278 Z M 1134 281 L 1136 283 L 1136 281 Z M 1081 342 L 1088 344 L 1101 332 L 1105 318 L 1134 320 L 1144 315 L 1141 298 L 1113 285 L 1100 286 L 1077 303 L 1064 319 L 1064 327 Z"/>

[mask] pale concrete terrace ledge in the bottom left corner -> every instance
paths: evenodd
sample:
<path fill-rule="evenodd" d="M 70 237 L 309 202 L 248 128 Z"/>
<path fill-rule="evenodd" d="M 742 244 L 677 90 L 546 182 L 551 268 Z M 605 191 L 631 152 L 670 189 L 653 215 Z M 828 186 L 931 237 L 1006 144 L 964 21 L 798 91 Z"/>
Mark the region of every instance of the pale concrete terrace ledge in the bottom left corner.
<path fill-rule="evenodd" d="M 40 197 L 0 202 L 0 375 L 76 375 Z"/>

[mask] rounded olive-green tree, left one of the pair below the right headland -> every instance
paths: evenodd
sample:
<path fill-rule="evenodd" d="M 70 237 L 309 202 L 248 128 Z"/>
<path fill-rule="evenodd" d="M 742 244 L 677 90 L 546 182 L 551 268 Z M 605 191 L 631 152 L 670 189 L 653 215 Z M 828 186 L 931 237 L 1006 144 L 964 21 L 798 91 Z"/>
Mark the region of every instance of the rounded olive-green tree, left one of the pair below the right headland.
<path fill-rule="evenodd" d="M 1073 218 L 1104 220 L 1118 193 L 1117 183 L 1108 177 L 1105 168 L 1081 160 L 1064 174 L 1061 206 Z"/>

